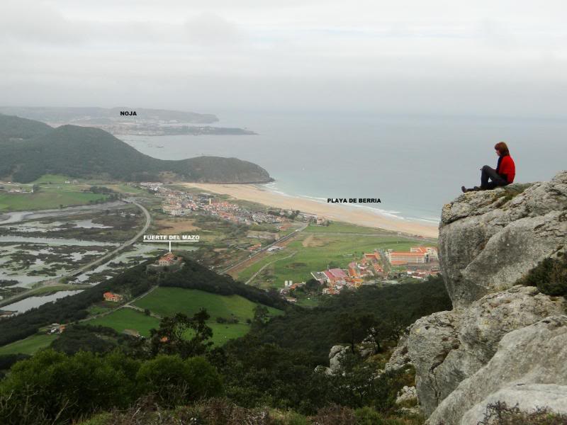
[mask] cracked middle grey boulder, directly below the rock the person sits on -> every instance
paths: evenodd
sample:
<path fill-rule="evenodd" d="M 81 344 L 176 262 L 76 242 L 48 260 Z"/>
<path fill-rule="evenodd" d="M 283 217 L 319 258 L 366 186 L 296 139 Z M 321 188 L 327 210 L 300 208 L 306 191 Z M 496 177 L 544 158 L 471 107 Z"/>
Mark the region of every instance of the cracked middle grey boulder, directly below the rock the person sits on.
<path fill-rule="evenodd" d="M 461 381 L 488 363 L 505 334 L 563 314 L 566 307 L 563 297 L 517 285 L 485 295 L 468 308 L 418 319 L 400 347 L 407 346 L 415 366 L 417 394 L 425 414 L 431 414 Z"/>

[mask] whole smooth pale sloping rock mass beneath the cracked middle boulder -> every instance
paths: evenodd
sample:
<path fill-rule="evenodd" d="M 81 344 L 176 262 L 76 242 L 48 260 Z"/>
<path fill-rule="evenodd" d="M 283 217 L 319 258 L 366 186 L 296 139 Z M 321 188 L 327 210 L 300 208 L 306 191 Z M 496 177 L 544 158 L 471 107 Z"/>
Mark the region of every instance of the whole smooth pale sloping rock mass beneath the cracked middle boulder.
<path fill-rule="evenodd" d="M 456 387 L 430 425 L 477 424 L 488 404 L 567 412 L 567 316 L 556 315 L 507 333 L 494 356 Z"/>

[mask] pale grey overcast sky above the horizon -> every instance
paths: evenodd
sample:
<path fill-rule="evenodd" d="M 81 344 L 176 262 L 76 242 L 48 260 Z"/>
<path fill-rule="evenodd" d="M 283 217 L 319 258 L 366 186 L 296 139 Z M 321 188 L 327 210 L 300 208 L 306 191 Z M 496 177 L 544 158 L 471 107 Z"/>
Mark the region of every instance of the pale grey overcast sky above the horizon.
<path fill-rule="evenodd" d="M 566 5 L 2 0 L 0 104 L 565 116 Z"/>

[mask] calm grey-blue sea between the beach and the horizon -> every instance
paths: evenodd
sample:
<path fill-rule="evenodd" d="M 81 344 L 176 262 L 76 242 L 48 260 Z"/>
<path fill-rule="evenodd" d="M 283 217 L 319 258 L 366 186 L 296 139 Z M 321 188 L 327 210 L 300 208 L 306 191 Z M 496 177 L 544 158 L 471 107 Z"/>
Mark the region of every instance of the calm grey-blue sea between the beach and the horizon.
<path fill-rule="evenodd" d="M 400 220 L 438 223 L 461 186 L 480 185 L 495 168 L 496 142 L 516 164 L 515 182 L 551 179 L 567 169 L 567 120 L 374 113 L 218 113 L 218 127 L 258 135 L 118 136 L 160 159 L 236 157 L 264 167 L 266 188 L 327 203 L 328 198 L 379 198 L 349 204 Z"/>

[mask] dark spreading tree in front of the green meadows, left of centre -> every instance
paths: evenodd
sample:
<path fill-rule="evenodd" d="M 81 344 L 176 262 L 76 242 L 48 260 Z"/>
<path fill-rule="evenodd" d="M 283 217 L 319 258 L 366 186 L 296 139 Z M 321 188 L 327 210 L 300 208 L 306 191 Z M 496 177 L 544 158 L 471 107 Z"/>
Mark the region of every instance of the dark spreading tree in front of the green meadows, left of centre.
<path fill-rule="evenodd" d="M 213 345 L 208 341 L 213 336 L 213 330 L 206 324 L 209 317 L 205 309 L 199 310 L 193 317 L 183 313 L 164 317 L 159 323 L 159 329 L 150 331 L 152 356 L 163 353 L 179 354 L 181 358 L 188 358 L 205 354 Z M 187 339 L 188 334 L 193 335 L 191 339 Z"/>

